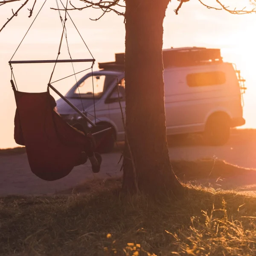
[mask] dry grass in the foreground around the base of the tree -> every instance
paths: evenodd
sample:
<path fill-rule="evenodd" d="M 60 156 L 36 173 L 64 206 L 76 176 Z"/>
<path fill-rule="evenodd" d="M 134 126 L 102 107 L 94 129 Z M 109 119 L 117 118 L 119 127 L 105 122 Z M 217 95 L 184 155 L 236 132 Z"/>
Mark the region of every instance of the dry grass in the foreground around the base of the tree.
<path fill-rule="evenodd" d="M 1 255 L 256 255 L 256 198 L 189 186 L 180 201 L 85 195 L 0 201 Z"/>

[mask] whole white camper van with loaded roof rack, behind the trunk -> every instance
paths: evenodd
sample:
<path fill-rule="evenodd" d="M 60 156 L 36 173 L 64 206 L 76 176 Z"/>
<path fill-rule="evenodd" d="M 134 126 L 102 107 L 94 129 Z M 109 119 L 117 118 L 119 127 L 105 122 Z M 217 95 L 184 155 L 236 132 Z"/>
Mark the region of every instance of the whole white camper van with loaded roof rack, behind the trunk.
<path fill-rule="evenodd" d="M 229 139 L 230 128 L 244 125 L 241 105 L 246 89 L 244 79 L 233 64 L 222 61 L 220 49 L 166 49 L 163 64 L 167 135 L 204 133 L 209 144 L 223 145 Z M 101 70 L 93 72 L 93 78 L 92 73 L 82 77 L 79 87 L 74 85 L 66 97 L 79 110 L 84 109 L 99 127 L 113 127 L 117 141 L 124 140 L 116 87 L 118 80 L 125 114 L 124 54 L 116 54 L 115 62 L 100 63 L 99 68 Z M 81 122 L 81 117 L 62 99 L 57 101 L 57 108 L 70 124 Z M 110 138 L 102 151 L 109 152 L 113 146 L 114 140 Z"/>

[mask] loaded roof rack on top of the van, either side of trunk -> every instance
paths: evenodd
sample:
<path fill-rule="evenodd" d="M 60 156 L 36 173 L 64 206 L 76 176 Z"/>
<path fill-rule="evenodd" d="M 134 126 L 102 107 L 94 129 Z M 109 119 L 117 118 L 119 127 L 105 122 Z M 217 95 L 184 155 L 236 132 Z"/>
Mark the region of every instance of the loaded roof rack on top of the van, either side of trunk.
<path fill-rule="evenodd" d="M 116 61 L 99 63 L 99 69 L 124 70 L 125 54 L 116 53 Z M 221 63 L 220 49 L 207 49 L 205 47 L 182 47 L 163 49 L 163 66 L 188 67 L 196 65 L 209 65 Z"/>

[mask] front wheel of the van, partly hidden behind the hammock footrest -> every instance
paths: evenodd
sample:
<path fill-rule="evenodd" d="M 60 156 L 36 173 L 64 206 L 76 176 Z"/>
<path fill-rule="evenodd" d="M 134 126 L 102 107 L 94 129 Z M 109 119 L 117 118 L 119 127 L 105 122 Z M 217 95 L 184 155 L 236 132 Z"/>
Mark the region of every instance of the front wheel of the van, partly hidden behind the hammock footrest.
<path fill-rule="evenodd" d="M 97 131 L 102 131 L 105 130 L 107 128 L 112 128 L 113 127 L 109 124 L 105 124 L 105 123 L 99 123 L 96 127 L 94 127 L 91 132 L 97 132 Z M 96 148 L 96 152 L 103 154 L 103 153 L 110 153 L 111 151 L 113 151 L 113 148 L 115 146 L 115 134 L 114 132 L 107 137 L 103 137 L 103 139 L 100 139 L 100 145 Z"/>

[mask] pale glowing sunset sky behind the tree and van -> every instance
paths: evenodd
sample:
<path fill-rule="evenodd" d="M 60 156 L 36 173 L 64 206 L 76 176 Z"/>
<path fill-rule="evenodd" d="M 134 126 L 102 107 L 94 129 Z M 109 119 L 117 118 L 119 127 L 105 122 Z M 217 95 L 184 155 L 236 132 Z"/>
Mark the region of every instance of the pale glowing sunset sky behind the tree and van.
<path fill-rule="evenodd" d="M 0 26 L 12 15 L 12 10 L 20 7 L 20 1 L 0 6 Z M 28 8 L 32 8 L 34 1 L 29 1 L 17 17 L 0 32 L 0 148 L 17 146 L 13 139 L 13 122 L 15 115 L 15 99 L 10 84 L 10 68 L 8 61 L 25 35 L 32 20 L 43 4 L 37 0 L 33 16 L 28 18 Z M 84 6 L 78 0 L 72 2 L 76 6 Z M 218 6 L 215 0 L 205 0 L 205 3 Z M 223 0 L 230 9 L 242 9 L 247 6 L 251 9 L 248 0 Z M 219 48 L 224 61 L 235 63 L 246 79 L 247 92 L 244 95 L 244 118 L 246 125 L 243 128 L 256 128 L 256 14 L 232 15 L 226 11 L 216 11 L 202 6 L 198 0 L 184 3 L 178 15 L 174 10 L 179 2 L 172 0 L 166 11 L 164 20 L 163 48 L 170 47 L 208 47 Z M 40 60 L 55 59 L 61 38 L 62 26 L 55 0 L 47 0 L 35 23 L 26 35 L 23 43 L 17 50 L 13 60 Z M 62 12 L 62 15 L 64 13 Z M 87 47 L 90 49 L 96 63 L 93 70 L 98 70 L 98 62 L 114 61 L 116 52 L 125 51 L 125 24 L 124 18 L 115 13 L 107 13 L 100 20 L 92 21 L 101 12 L 97 9 L 84 9 L 83 11 L 70 11 L 74 23 L 81 33 Z M 64 17 L 64 16 L 63 16 Z M 81 41 L 70 19 L 67 20 L 67 39 L 72 58 L 90 58 L 90 52 Z M 59 58 L 69 58 L 65 42 L 61 48 Z M 90 67 L 89 63 L 76 63 L 76 71 Z M 27 92 L 42 92 L 47 89 L 53 64 L 14 64 L 13 71 L 18 89 Z M 71 64 L 57 64 L 53 80 L 71 75 Z M 78 75 L 78 79 L 85 73 Z M 65 94 L 73 84 L 75 78 L 71 77 L 56 83 L 56 88 Z M 52 95 L 57 99 L 54 93 Z"/>

